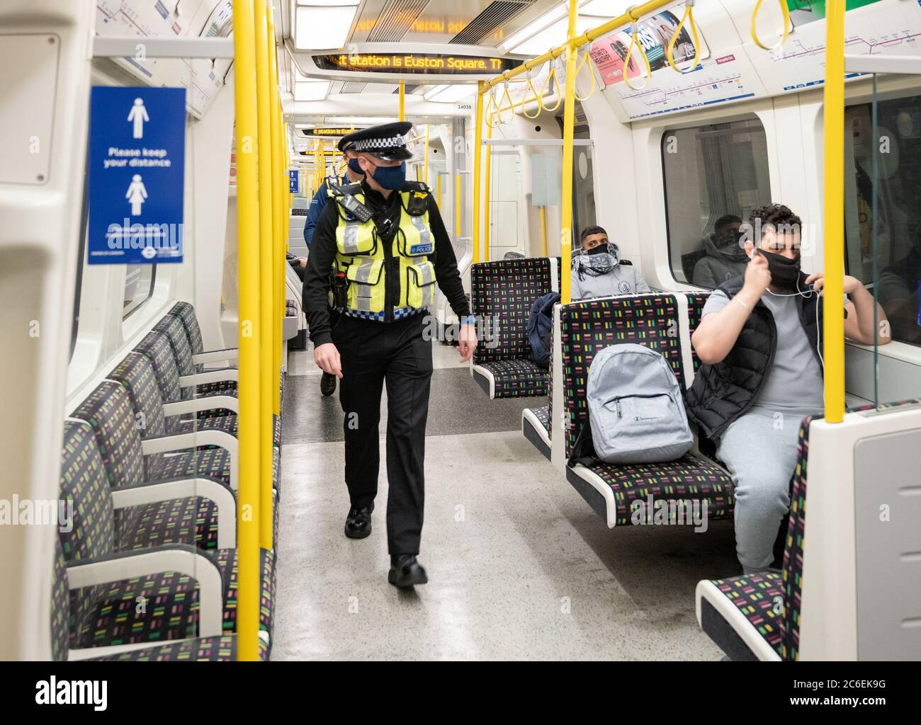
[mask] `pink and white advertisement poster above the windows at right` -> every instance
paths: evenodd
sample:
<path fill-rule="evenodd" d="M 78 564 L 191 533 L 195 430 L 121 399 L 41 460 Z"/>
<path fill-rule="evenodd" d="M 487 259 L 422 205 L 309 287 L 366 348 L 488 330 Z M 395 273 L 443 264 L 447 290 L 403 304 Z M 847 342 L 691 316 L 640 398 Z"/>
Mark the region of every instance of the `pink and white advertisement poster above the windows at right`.
<path fill-rule="evenodd" d="M 665 10 L 640 20 L 639 27 L 636 29 L 636 38 L 643 47 L 643 51 L 646 52 L 651 72 L 655 73 L 660 68 L 668 66 L 669 61 L 665 57 L 665 51 L 669 47 L 671 36 L 674 35 L 675 29 L 678 28 L 680 22 L 681 18 L 670 12 L 670 10 Z M 700 29 L 697 30 L 697 38 L 700 40 L 700 55 L 697 60 L 702 61 L 709 56 L 710 52 L 700 34 Z M 598 68 L 605 86 L 611 86 L 623 79 L 624 61 L 629 47 L 630 28 L 624 28 L 592 43 L 591 59 L 595 63 L 595 67 Z M 693 59 L 694 40 L 690 31 L 685 27 L 682 28 L 681 35 L 675 41 L 674 60 L 675 63 L 681 65 L 681 63 Z M 631 80 L 636 76 L 646 74 L 646 68 L 639 52 L 635 48 L 630 56 L 630 67 L 627 69 L 627 74 L 627 77 Z"/>

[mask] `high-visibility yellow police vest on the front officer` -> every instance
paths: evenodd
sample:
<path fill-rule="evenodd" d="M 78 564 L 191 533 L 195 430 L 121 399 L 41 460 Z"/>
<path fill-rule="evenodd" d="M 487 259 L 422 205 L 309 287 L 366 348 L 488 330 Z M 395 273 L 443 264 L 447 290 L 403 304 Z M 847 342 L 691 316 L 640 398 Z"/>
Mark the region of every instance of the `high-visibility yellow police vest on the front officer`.
<path fill-rule="evenodd" d="M 428 225 L 428 193 L 394 193 L 400 194 L 402 211 L 400 226 L 390 245 L 380 239 L 373 220 L 361 222 L 337 209 L 335 264 L 338 271 L 345 272 L 348 280 L 346 313 L 384 318 L 387 307 L 384 268 L 385 261 L 390 258 L 400 259 L 400 296 L 391 297 L 394 316 L 412 314 L 435 303 L 435 265 L 429 261 L 429 256 L 435 253 L 435 236 Z M 363 193 L 354 196 L 365 203 Z"/>

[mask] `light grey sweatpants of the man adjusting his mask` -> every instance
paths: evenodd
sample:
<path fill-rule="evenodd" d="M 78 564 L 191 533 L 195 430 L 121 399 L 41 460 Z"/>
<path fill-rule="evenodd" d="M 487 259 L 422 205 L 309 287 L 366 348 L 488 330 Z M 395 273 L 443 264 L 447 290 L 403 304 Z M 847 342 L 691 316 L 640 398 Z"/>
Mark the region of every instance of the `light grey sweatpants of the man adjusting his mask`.
<path fill-rule="evenodd" d="M 805 415 L 750 411 L 734 420 L 717 443 L 717 458 L 736 488 L 736 553 L 746 573 L 767 569 L 774 559 Z"/>

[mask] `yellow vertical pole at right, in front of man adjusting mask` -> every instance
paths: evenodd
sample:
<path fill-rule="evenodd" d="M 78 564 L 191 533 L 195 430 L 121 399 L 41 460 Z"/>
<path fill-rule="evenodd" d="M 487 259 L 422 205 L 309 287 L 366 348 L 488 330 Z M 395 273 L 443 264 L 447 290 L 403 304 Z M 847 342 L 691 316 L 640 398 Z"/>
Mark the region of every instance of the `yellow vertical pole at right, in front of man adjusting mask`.
<path fill-rule="evenodd" d="M 845 3 L 825 4 L 825 199 L 824 234 L 826 300 L 845 293 Z M 875 142 L 874 142 L 875 143 Z M 845 417 L 845 320 L 825 315 L 825 420 Z"/>

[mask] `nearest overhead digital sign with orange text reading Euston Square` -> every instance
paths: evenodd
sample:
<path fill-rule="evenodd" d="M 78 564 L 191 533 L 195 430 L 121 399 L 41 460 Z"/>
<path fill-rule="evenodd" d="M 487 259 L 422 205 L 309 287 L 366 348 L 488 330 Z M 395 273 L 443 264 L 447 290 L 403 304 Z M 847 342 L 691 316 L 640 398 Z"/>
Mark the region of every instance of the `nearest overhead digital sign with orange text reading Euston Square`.
<path fill-rule="evenodd" d="M 324 71 L 430 75 L 496 75 L 521 63 L 508 58 L 439 53 L 342 53 L 314 55 L 313 62 Z"/>

